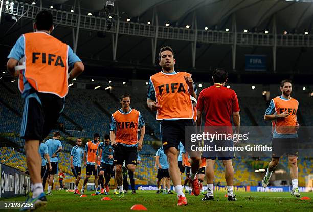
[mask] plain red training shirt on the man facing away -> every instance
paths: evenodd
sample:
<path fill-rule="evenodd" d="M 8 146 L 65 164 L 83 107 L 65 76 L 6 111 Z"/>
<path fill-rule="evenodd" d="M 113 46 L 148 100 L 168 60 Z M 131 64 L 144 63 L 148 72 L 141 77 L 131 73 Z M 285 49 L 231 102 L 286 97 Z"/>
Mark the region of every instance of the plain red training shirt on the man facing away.
<path fill-rule="evenodd" d="M 200 92 L 196 109 L 205 111 L 205 126 L 231 126 L 231 114 L 240 111 L 235 91 L 219 83 Z"/>

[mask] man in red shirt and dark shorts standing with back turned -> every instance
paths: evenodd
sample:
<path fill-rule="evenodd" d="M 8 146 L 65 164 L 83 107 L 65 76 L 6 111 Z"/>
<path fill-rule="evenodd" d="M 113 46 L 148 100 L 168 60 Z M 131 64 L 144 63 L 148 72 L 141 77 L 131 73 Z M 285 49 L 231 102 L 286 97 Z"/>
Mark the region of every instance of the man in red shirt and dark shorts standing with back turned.
<path fill-rule="evenodd" d="M 201 126 L 201 114 L 204 111 L 205 118 L 205 131 L 210 131 L 210 127 L 217 129 L 222 134 L 233 134 L 231 116 L 235 125 L 235 133 L 239 133 L 240 128 L 240 115 L 239 103 L 235 91 L 226 88 L 228 73 L 225 69 L 215 69 L 213 71 L 213 86 L 203 89 L 200 92 L 198 103 L 196 106 L 198 119 L 197 125 Z M 214 130 L 215 133 L 215 130 Z M 211 143 L 213 146 L 233 146 L 230 140 L 214 140 Z M 205 151 L 202 153 L 206 157 L 205 174 L 207 178 L 208 192 L 202 200 L 213 200 L 213 179 L 214 179 L 214 163 L 216 156 L 222 160 L 225 167 L 225 179 L 227 183 L 227 194 L 229 201 L 236 201 L 233 193 L 234 181 L 234 168 L 232 159 L 234 158 L 233 151 Z"/>

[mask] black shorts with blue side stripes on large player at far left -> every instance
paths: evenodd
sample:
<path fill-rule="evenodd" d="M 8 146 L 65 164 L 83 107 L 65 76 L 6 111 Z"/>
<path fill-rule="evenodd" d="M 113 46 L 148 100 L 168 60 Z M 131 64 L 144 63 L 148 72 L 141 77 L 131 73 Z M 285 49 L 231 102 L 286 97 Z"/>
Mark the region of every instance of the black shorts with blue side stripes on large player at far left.
<path fill-rule="evenodd" d="M 20 138 L 42 141 L 57 123 L 64 108 L 64 98 L 31 90 L 24 101 Z"/>

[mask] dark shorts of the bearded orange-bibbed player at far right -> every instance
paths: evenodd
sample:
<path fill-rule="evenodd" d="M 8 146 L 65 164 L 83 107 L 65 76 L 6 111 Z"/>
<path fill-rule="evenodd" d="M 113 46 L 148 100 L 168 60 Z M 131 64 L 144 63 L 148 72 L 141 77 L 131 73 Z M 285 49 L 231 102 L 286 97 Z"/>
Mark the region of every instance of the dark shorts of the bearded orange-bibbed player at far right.
<path fill-rule="evenodd" d="M 282 155 L 294 155 L 298 157 L 298 138 L 273 138 L 272 157 L 279 158 Z"/>

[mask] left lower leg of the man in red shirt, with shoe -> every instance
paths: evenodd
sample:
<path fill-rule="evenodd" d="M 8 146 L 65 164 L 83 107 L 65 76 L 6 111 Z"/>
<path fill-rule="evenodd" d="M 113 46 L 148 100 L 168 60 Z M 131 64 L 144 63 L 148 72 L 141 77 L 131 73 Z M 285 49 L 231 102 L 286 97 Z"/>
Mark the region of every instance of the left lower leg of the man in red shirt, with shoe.
<path fill-rule="evenodd" d="M 202 200 L 213 200 L 213 180 L 214 180 L 214 164 L 215 164 L 215 157 L 214 159 L 207 158 L 206 160 L 207 165 L 205 169 L 206 174 L 206 181 L 207 181 L 207 194 L 202 198 Z"/>

